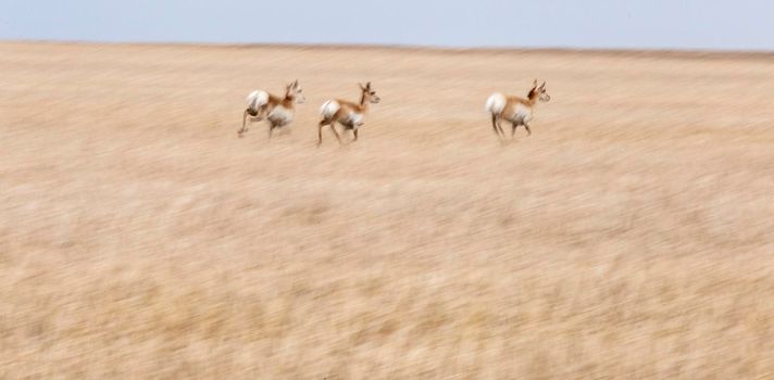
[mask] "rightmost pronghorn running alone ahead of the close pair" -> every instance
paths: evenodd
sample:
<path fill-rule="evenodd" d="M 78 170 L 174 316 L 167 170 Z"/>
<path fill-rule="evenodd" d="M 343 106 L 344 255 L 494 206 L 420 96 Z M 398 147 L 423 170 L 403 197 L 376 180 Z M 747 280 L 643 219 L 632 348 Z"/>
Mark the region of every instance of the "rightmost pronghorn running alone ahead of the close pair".
<path fill-rule="evenodd" d="M 500 92 L 492 93 L 491 97 L 486 101 L 486 111 L 491 114 L 491 127 L 495 129 L 500 141 L 505 140 L 505 132 L 502 131 L 500 122 L 505 119 L 511 123 L 511 140 L 513 135 L 516 132 L 516 127 L 523 125 L 527 128 L 527 136 L 532 135 L 529 130 L 529 121 L 532 121 L 535 114 L 535 106 L 537 102 L 547 102 L 551 100 L 551 97 L 546 93 L 546 81 L 537 86 L 537 79 L 533 83 L 533 88 L 527 94 L 527 99 L 520 97 L 507 97 Z"/>

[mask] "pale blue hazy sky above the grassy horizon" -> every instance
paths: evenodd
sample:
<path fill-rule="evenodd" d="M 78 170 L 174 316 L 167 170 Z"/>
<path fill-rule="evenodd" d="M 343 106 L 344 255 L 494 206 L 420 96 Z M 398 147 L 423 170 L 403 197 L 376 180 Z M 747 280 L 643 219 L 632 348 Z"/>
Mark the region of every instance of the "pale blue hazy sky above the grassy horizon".
<path fill-rule="evenodd" d="M 0 0 L 0 39 L 774 50 L 774 1 Z"/>

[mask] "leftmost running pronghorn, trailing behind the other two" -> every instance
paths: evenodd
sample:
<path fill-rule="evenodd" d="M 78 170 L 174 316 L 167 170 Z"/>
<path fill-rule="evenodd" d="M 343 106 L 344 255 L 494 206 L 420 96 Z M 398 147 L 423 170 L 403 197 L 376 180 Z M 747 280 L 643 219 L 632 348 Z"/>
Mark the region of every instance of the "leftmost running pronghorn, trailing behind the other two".
<path fill-rule="evenodd" d="M 242 115 L 242 128 L 239 129 L 238 136 L 242 137 L 247 131 L 247 117 L 250 115 L 250 123 L 260 122 L 264 117 L 269 121 L 269 138 L 271 139 L 274 128 L 284 127 L 292 122 L 296 103 L 300 104 L 305 100 L 298 79 L 287 86 L 285 98 L 275 97 L 263 90 L 250 92 L 247 97 L 247 109 Z"/>

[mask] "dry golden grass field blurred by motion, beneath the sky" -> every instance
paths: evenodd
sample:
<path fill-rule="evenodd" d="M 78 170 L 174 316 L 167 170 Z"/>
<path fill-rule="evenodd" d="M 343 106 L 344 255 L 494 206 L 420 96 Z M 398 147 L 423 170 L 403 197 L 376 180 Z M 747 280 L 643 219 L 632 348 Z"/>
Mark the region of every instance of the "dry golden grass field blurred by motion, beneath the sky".
<path fill-rule="evenodd" d="M 1 42 L 0 378 L 771 379 L 773 97 L 765 54 Z"/>

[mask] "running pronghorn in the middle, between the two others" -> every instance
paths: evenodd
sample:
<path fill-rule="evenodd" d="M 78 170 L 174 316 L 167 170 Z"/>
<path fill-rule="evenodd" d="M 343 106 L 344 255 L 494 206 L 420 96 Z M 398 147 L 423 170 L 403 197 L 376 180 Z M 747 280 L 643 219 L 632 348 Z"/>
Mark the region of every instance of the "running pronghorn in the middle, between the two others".
<path fill-rule="evenodd" d="M 363 125 L 363 118 L 369 112 L 369 103 L 378 103 L 379 97 L 376 96 L 376 91 L 371 89 L 371 83 L 369 81 L 360 86 L 360 103 L 348 102 L 344 100 L 328 100 L 323 103 L 320 107 L 320 115 L 323 119 L 320 121 L 317 125 L 317 147 L 323 143 L 323 127 L 326 125 L 330 126 L 330 130 L 336 135 L 336 139 L 341 143 L 341 136 L 336 131 L 336 123 L 341 124 L 345 130 L 352 130 L 354 134 L 354 140 L 358 140 L 358 128 Z"/>

